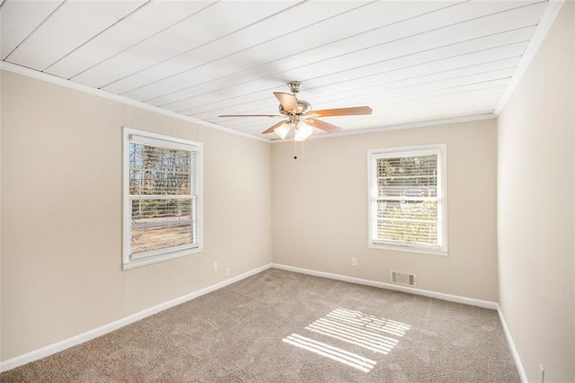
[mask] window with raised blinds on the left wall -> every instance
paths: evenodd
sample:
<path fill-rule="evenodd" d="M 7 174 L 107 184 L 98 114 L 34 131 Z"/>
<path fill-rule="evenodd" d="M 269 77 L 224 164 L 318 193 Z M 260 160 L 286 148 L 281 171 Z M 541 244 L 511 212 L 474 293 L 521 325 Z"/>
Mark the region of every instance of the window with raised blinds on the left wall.
<path fill-rule="evenodd" d="M 201 251 L 201 149 L 124 128 L 124 270 Z"/>

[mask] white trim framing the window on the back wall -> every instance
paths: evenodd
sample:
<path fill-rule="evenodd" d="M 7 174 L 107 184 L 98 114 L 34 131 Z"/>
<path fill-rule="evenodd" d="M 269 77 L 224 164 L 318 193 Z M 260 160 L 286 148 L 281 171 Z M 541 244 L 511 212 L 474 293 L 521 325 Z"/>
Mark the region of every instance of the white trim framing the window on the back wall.
<path fill-rule="evenodd" d="M 393 154 L 394 156 L 418 156 L 423 154 L 438 154 L 438 215 L 440 216 L 438 236 L 441 237 L 442 246 L 426 246 L 416 244 L 396 244 L 376 239 L 376 199 L 377 184 L 375 159 L 380 155 Z M 407 253 L 432 254 L 447 256 L 447 145 L 425 145 L 418 147 L 389 147 L 371 149 L 367 151 L 367 247 L 371 249 L 385 249 Z"/>

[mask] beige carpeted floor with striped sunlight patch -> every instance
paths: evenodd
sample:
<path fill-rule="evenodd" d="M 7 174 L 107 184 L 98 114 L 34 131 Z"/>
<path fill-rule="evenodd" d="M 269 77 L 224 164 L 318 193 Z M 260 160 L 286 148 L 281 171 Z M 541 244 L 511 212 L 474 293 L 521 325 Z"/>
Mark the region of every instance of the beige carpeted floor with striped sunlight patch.
<path fill-rule="evenodd" d="M 497 312 L 270 269 L 3 382 L 519 382 Z"/>

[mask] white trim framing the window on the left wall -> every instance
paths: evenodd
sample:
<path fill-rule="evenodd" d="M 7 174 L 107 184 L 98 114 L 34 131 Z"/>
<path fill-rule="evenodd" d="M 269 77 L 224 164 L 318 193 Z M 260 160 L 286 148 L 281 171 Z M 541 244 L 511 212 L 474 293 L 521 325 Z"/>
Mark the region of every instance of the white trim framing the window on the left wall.
<path fill-rule="evenodd" d="M 171 147 L 176 149 L 190 150 L 190 146 L 195 147 L 198 151 L 198 195 L 196 199 L 198 209 L 198 244 L 194 247 L 186 246 L 186 248 L 178 249 L 178 246 L 158 250 L 147 254 L 145 258 L 132 258 L 130 259 L 131 251 L 131 203 L 129 195 L 129 144 L 136 138 L 137 142 L 151 145 L 161 145 L 164 147 Z M 122 153 L 122 269 L 129 270 L 136 267 L 145 266 L 147 264 L 164 262 L 182 256 L 197 254 L 204 250 L 203 241 L 203 144 L 200 142 L 190 141 L 183 138 L 174 138 L 164 136 L 163 134 L 151 133 L 144 130 L 132 129 L 128 127 L 123 128 L 123 153 Z"/>

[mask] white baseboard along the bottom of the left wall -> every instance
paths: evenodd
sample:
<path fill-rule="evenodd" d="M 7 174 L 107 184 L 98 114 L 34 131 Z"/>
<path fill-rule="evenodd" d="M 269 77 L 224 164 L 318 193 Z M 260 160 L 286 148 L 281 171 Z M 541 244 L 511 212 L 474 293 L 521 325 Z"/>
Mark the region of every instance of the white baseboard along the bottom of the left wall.
<path fill-rule="evenodd" d="M 271 263 L 268 263 L 256 269 L 253 269 L 249 272 L 244 272 L 243 274 L 236 275 L 233 278 L 227 279 L 226 281 L 218 282 L 214 285 L 208 286 L 207 288 L 199 289 L 197 291 L 191 292 L 190 294 L 186 294 L 183 297 L 175 298 L 162 304 L 159 304 L 155 307 L 147 308 L 146 310 L 140 311 L 136 314 L 132 314 L 131 316 L 126 316 L 125 318 L 119 319 L 108 325 L 102 325 L 101 327 L 94 328 L 93 330 L 87 331 L 84 334 L 78 334 L 63 341 L 50 344 L 46 347 L 42 347 L 38 350 L 34 350 L 32 352 L 27 352 L 25 354 L 16 356 L 12 359 L 8 359 L 6 361 L 0 361 L 0 372 L 15 369 L 16 367 L 22 366 L 23 364 L 26 363 L 30 363 L 31 361 L 38 361 L 39 359 L 55 354 L 56 352 L 64 351 L 67 348 L 70 348 L 77 344 L 88 342 L 93 338 L 102 336 L 103 334 L 111 333 L 112 331 L 117 330 L 120 327 L 132 324 L 140 319 L 144 319 L 146 316 L 153 316 L 154 314 L 159 313 L 160 311 L 164 311 L 167 308 L 180 305 L 181 303 L 187 302 L 193 298 L 198 298 L 202 295 L 208 294 L 208 292 L 212 292 L 217 289 L 226 287 L 227 285 L 230 285 L 234 282 L 242 281 L 247 277 L 251 277 L 253 274 L 257 274 L 258 272 L 268 270 L 270 269 L 270 267 Z"/>

